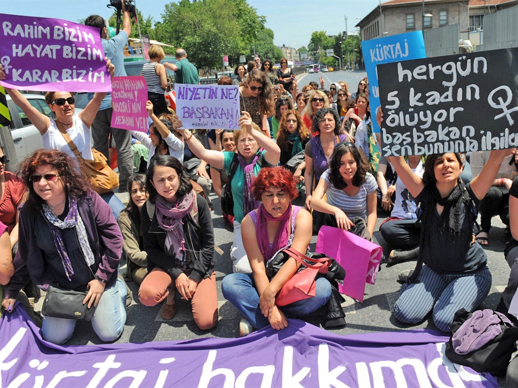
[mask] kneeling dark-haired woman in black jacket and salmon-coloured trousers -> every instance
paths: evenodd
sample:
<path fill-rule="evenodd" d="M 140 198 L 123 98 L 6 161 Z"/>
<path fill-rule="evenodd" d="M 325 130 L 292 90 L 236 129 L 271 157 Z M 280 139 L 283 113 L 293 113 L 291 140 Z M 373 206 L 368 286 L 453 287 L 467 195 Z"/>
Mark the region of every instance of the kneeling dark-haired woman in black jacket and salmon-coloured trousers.
<path fill-rule="evenodd" d="M 196 325 L 212 329 L 218 323 L 218 293 L 209 205 L 194 192 L 180 161 L 169 155 L 151 159 L 146 189 L 149 200 L 140 216 L 149 273 L 139 301 L 155 306 L 165 300 L 165 320 L 176 315 L 175 296 L 190 301 Z"/>

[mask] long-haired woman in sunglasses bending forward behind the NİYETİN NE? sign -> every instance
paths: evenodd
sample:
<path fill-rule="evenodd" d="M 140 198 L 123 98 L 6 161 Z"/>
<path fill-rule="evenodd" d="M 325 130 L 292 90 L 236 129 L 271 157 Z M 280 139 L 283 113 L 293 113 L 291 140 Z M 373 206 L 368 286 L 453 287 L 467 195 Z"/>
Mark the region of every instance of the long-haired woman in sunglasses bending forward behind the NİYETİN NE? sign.
<path fill-rule="evenodd" d="M 266 74 L 253 69 L 247 81 L 239 86 L 241 111 L 250 113 L 252 121 L 270 137 L 268 117 L 274 115 L 273 94 Z"/>

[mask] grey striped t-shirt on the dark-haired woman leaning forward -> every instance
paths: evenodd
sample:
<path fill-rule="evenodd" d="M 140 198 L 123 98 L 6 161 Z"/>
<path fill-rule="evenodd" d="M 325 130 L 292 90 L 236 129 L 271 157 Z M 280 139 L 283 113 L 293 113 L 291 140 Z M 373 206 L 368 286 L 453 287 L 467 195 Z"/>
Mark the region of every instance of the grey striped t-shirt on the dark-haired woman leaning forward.
<path fill-rule="evenodd" d="M 326 202 L 341 209 L 351 220 L 354 217 L 362 217 L 364 220 L 367 220 L 367 196 L 378 188 L 376 179 L 370 172 L 366 173 L 365 182 L 359 187 L 356 195 L 349 196 L 345 191 L 337 189 L 329 181 L 330 172 L 331 170 L 327 169 L 321 176 L 321 179 L 329 186 L 326 191 Z"/>

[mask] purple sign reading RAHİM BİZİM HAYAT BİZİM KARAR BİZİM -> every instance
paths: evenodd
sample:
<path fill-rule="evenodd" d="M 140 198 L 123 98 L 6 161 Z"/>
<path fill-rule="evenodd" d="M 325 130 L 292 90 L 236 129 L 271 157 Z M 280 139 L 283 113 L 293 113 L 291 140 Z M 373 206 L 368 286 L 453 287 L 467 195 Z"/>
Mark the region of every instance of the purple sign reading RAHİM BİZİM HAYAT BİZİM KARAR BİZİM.
<path fill-rule="evenodd" d="M 110 92 L 99 29 L 61 19 L 0 14 L 2 86 Z"/>

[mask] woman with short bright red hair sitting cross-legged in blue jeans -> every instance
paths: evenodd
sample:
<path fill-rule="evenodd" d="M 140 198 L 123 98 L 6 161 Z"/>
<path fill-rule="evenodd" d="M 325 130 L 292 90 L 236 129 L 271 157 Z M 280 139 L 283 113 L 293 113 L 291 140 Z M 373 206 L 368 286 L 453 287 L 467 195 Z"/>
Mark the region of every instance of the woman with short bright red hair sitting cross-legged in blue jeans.
<path fill-rule="evenodd" d="M 287 327 L 287 318 L 300 318 L 325 305 L 331 296 L 327 279 L 316 279 L 316 295 L 309 299 L 278 307 L 275 296 L 297 272 L 299 263 L 289 258 L 279 272 L 268 278 L 266 266 L 278 250 L 292 247 L 306 252 L 311 240 L 312 219 L 304 208 L 292 206 L 297 188 L 290 171 L 282 167 L 261 169 L 251 186 L 257 210 L 243 218 L 241 235 L 252 268 L 251 274 L 234 273 L 225 276 L 222 291 L 244 319 L 239 325 L 241 336 L 252 327 L 268 324 L 275 330 Z"/>

